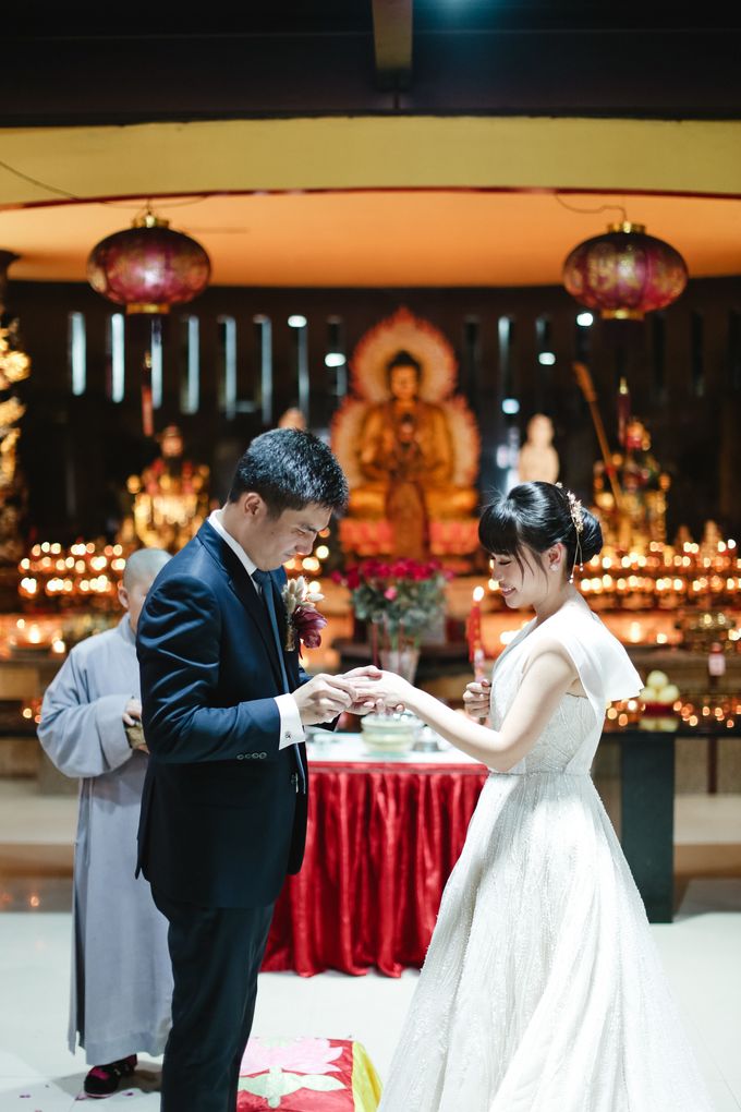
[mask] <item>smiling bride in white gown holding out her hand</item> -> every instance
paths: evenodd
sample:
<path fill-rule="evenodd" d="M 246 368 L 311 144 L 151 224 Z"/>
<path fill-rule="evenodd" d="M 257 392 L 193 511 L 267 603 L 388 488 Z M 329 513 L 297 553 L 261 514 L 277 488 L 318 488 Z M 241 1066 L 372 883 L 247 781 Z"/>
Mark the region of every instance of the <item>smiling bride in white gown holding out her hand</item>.
<path fill-rule="evenodd" d="M 605 706 L 641 679 L 572 584 L 600 552 L 570 493 L 484 510 L 508 606 L 535 617 L 464 701 L 373 685 L 488 765 L 380 1112 L 709 1112 L 645 912 L 589 771 Z"/>

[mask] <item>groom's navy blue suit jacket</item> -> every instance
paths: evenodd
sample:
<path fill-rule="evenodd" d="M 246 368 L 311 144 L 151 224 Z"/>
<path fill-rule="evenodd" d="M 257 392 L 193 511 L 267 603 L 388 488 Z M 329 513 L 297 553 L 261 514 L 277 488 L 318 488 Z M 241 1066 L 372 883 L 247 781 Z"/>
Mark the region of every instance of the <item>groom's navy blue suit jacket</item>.
<path fill-rule="evenodd" d="M 284 644 L 282 568 L 271 574 Z M 139 864 L 173 900 L 271 903 L 301 866 L 307 796 L 279 749 L 276 639 L 251 577 L 208 522 L 160 572 L 137 631 L 150 751 Z M 309 677 L 283 652 L 291 689 Z M 299 757 L 307 768 L 304 746 Z"/>

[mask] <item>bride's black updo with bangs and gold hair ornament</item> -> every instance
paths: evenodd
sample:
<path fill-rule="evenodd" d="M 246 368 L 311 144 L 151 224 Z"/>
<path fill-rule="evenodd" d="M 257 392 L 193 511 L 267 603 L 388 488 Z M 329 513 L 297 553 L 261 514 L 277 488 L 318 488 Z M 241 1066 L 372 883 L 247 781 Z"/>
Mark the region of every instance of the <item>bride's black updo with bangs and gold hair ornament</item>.
<path fill-rule="evenodd" d="M 570 573 L 574 564 L 585 564 L 601 552 L 602 529 L 594 515 L 569 494 L 553 483 L 512 487 L 508 495 L 485 507 L 479 522 L 479 540 L 492 555 L 513 556 L 520 569 L 528 553 L 541 556 L 562 544 Z"/>

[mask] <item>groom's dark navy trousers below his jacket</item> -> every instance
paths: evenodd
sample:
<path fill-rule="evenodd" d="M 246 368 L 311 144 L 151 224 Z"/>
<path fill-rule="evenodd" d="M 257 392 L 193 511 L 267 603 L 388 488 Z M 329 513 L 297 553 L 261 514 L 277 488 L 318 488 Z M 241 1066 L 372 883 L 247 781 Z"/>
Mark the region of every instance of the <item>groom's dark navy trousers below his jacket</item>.
<path fill-rule="evenodd" d="M 197 907 L 152 895 L 170 923 L 174 981 L 162 1112 L 234 1112 L 273 905 Z"/>

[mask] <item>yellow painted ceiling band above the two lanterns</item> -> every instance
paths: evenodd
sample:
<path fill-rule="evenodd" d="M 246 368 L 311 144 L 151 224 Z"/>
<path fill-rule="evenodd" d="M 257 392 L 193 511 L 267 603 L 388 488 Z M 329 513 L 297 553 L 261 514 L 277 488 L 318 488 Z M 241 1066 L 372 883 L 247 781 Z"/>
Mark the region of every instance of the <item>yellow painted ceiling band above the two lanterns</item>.
<path fill-rule="evenodd" d="M 0 207 L 53 199 L 40 182 L 76 198 L 407 186 L 741 196 L 741 120 L 385 116 L 0 129 Z"/>

